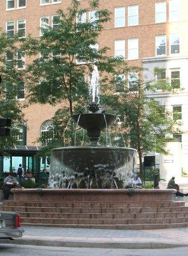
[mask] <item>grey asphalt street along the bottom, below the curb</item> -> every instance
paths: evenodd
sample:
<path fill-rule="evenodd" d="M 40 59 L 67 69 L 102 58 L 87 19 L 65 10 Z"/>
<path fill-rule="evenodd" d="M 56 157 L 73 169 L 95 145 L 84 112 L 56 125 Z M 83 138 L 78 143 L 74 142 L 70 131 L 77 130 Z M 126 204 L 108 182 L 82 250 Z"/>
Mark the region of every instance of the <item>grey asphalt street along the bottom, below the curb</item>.
<path fill-rule="evenodd" d="M 102 248 L 62 248 L 48 246 L 25 246 L 17 244 L 0 244 L 2 256 L 187 256 L 188 247 L 171 249 L 102 249 Z"/>

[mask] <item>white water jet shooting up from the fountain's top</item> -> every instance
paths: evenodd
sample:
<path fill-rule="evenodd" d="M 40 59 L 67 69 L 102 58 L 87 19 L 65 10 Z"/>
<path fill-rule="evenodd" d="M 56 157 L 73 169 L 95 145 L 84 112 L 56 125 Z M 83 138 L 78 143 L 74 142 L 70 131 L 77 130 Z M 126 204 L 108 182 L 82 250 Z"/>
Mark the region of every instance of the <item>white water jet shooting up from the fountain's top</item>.
<path fill-rule="evenodd" d="M 99 72 L 98 67 L 94 65 L 94 70 L 92 72 L 92 77 L 89 83 L 89 95 L 92 98 L 92 102 L 99 104 Z"/>

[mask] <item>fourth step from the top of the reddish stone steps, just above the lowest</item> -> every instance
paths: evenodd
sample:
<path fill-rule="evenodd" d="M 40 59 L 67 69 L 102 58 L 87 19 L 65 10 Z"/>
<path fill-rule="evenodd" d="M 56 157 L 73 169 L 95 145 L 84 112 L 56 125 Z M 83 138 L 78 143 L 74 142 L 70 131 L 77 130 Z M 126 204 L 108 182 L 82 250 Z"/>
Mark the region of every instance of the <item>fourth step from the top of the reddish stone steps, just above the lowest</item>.
<path fill-rule="evenodd" d="M 23 218 L 21 223 L 71 224 L 71 225 L 148 225 L 187 223 L 188 218 L 140 218 L 140 219 L 64 219 L 64 218 Z"/>

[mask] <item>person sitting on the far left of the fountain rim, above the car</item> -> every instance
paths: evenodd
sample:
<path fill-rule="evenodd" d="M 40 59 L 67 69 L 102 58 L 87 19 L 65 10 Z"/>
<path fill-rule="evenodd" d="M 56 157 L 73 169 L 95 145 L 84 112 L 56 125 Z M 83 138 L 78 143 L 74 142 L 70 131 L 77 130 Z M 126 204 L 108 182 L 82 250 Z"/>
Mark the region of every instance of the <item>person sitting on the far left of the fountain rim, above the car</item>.
<path fill-rule="evenodd" d="M 15 188 L 19 182 L 18 180 L 13 177 L 13 172 L 10 172 L 8 177 L 4 179 L 4 185 L 3 185 L 3 194 L 4 194 L 4 199 L 8 200 L 8 197 L 10 196 L 10 189 Z"/>

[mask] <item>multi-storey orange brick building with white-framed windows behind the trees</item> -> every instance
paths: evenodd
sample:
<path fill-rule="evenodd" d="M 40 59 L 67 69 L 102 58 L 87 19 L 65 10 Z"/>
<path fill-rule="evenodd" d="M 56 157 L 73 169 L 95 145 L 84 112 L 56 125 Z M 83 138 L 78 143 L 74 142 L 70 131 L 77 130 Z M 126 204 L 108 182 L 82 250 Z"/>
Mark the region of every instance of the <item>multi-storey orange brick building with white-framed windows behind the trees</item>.
<path fill-rule="evenodd" d="M 71 0 L 1 0 L 0 2 L 0 27 L 6 33 L 18 31 L 20 36 L 31 34 L 37 38 L 40 36 L 40 27 L 43 24 L 55 26 L 53 22 L 55 12 L 58 9 L 66 9 Z M 88 3 L 87 0 L 80 0 L 82 7 L 87 7 Z M 112 13 L 112 19 L 105 25 L 104 31 L 99 36 L 99 48 L 108 46 L 110 47 L 108 53 L 111 56 L 121 55 L 129 61 L 130 65 L 148 68 L 148 72 L 144 74 L 148 79 L 169 77 L 172 83 L 180 81 L 179 88 L 184 88 L 178 95 L 170 95 L 159 90 L 157 93 L 148 93 L 148 97 L 159 99 L 161 104 L 173 112 L 172 118 L 183 121 L 184 134 L 171 136 L 176 136 L 181 143 L 178 145 L 180 145 L 182 163 L 178 168 L 188 173 L 186 163 L 188 156 L 188 86 L 186 84 L 188 80 L 188 72 L 186 72 L 188 1 L 101 0 L 100 3 L 101 8 L 107 8 Z M 92 12 L 85 13 L 80 19 L 90 19 L 91 16 Z M 20 58 L 24 65 L 31 61 L 24 54 Z M 166 72 L 155 77 L 154 67 L 163 67 Z M 22 90 L 20 100 L 24 100 L 24 88 Z M 24 110 L 27 120 L 27 145 L 33 145 L 33 141 L 40 136 L 41 132 L 47 131 L 55 110 L 52 106 L 37 104 Z M 162 165 L 164 164 L 161 163 Z"/>

